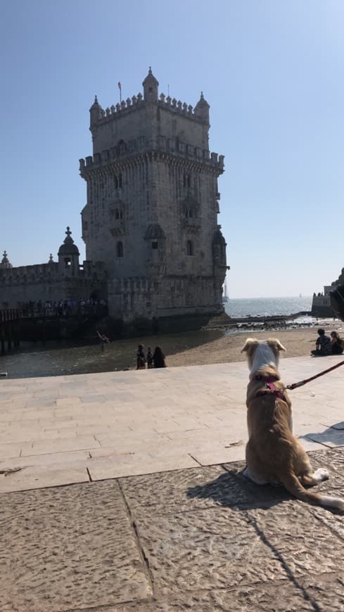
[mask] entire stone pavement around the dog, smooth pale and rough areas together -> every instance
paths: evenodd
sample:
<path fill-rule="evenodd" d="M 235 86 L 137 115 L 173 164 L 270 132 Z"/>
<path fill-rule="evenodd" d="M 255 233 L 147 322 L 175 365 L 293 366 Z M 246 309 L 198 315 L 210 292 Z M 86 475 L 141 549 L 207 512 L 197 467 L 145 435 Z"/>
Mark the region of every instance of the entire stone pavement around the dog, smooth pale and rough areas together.
<path fill-rule="evenodd" d="M 341 497 L 343 369 L 291 392 L 319 488 Z M 343 516 L 239 473 L 247 379 L 240 363 L 1 381 L 1 612 L 343 611 Z"/>

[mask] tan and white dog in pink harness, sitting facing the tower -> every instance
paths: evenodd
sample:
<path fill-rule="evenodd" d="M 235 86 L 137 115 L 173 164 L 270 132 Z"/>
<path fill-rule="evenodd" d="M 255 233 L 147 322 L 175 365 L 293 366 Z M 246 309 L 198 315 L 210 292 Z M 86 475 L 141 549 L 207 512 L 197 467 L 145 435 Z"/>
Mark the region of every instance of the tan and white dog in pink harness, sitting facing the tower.
<path fill-rule="evenodd" d="M 258 485 L 281 483 L 302 502 L 331 506 L 344 511 L 344 499 L 307 491 L 329 478 L 327 470 L 313 472 L 310 459 L 292 433 L 291 400 L 281 383 L 279 340 L 248 338 L 246 352 L 250 369 L 247 388 L 248 444 L 243 475 Z"/>

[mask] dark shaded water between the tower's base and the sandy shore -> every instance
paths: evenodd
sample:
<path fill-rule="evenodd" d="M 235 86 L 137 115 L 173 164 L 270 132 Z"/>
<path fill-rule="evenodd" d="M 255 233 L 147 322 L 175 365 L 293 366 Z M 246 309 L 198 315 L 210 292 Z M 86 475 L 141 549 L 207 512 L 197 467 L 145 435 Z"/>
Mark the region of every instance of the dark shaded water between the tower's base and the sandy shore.
<path fill-rule="evenodd" d="M 92 341 L 88 345 L 72 343 L 25 344 L 20 350 L 0 356 L 0 371 L 7 372 L 8 378 L 30 378 L 34 376 L 62 376 L 65 374 L 89 374 L 123 369 L 135 369 L 136 350 L 139 343 L 154 350 L 160 346 L 168 356 L 176 352 L 204 345 L 224 335 L 224 331 L 189 331 L 163 336 L 147 336 L 113 340 L 104 347 Z M 1 378 L 0 378 L 1 383 Z"/>

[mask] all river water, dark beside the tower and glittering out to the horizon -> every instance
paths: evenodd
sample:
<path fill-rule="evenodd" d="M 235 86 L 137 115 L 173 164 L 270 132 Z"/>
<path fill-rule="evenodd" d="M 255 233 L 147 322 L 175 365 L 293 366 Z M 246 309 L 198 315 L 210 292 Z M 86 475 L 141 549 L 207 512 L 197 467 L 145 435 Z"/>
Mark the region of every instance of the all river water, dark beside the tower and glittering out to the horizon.
<path fill-rule="evenodd" d="M 293 314 L 309 310 L 311 298 L 255 298 L 253 300 L 229 300 L 225 310 L 231 317 L 269 316 L 273 314 Z M 303 321 L 299 321 L 302 323 Z M 305 324 L 307 321 L 304 321 Z M 253 328 L 259 331 L 259 328 Z M 247 333 L 246 328 L 244 333 Z M 136 350 L 139 343 L 163 348 L 167 356 L 189 348 L 204 345 L 224 334 L 238 333 L 238 330 L 189 331 L 164 334 L 145 338 L 113 340 L 104 347 L 96 338 L 87 343 L 22 343 L 20 350 L 0 356 L 0 372 L 7 372 L 8 378 L 33 376 L 61 376 L 64 374 L 87 374 L 89 372 L 115 371 L 136 367 Z M 1 383 L 1 378 L 0 378 Z"/>

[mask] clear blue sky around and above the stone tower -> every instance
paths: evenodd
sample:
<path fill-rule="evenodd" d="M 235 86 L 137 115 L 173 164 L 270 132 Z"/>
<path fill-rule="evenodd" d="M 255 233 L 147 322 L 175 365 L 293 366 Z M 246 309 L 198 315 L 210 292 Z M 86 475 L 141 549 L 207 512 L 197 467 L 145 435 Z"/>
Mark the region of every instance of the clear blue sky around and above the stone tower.
<path fill-rule="evenodd" d="M 0 253 L 54 260 L 80 211 L 89 107 L 141 91 L 210 103 L 232 298 L 311 295 L 344 266 L 342 0 L 1 2 Z"/>

